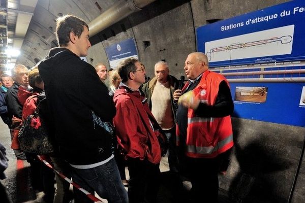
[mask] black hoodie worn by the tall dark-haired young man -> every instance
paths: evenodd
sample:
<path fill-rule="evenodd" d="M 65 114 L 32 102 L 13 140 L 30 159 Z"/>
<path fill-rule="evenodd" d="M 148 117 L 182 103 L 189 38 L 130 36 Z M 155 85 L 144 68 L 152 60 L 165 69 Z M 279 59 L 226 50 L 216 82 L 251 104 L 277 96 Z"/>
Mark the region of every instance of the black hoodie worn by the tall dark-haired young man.
<path fill-rule="evenodd" d="M 95 68 L 66 48 L 51 49 L 38 68 L 60 155 L 75 165 L 109 158 L 110 134 L 94 124 L 92 111 L 112 122 L 116 110 Z"/>

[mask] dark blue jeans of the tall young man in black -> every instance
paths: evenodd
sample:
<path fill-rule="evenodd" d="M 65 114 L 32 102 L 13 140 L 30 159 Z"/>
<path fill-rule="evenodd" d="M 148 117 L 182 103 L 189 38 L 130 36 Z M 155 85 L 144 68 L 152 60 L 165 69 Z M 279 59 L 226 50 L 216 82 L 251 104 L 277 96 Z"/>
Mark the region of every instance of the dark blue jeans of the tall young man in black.
<path fill-rule="evenodd" d="M 107 163 L 88 169 L 72 168 L 72 179 L 83 189 L 97 194 L 109 203 L 128 203 L 127 192 L 120 180 L 114 158 Z M 83 192 L 73 188 L 75 203 L 93 202 Z"/>

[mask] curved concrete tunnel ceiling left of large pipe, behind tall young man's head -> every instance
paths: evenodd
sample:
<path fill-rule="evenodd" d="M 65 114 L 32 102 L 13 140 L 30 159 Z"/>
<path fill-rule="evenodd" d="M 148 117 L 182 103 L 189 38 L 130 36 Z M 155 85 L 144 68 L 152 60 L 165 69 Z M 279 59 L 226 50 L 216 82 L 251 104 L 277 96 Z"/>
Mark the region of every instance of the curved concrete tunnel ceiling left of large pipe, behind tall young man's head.
<path fill-rule="evenodd" d="M 90 22 L 115 1 L 93 0 L 2 0 L 3 26 L 7 28 L 7 48 L 20 49 L 18 57 L 8 58 L 8 63 L 32 67 L 43 59 L 48 50 L 57 46 L 55 19 L 73 14 Z M 101 4 L 103 2 L 103 4 Z M 99 4 L 103 5 L 100 6 Z M 7 26 L 6 26 L 7 25 Z M 6 63 L 6 61 L 2 61 Z M 5 65 L 0 68 L 6 70 Z"/>

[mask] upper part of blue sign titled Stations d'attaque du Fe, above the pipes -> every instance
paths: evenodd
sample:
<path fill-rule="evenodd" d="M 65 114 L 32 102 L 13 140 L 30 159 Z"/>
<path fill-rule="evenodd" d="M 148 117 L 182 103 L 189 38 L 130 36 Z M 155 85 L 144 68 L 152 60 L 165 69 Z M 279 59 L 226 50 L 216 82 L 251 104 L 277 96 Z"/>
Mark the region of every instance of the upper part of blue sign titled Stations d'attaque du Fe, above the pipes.
<path fill-rule="evenodd" d="M 291 1 L 197 28 L 211 67 L 305 59 L 305 1 Z"/>

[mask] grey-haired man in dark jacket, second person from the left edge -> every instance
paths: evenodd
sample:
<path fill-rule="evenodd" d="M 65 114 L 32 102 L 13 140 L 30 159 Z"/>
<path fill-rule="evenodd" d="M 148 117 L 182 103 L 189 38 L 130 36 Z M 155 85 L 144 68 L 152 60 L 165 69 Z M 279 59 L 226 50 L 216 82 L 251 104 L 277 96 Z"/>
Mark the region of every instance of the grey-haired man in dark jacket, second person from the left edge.
<path fill-rule="evenodd" d="M 22 108 L 23 104 L 20 103 L 18 99 L 18 89 L 23 88 L 25 90 L 28 89 L 28 69 L 24 65 L 18 64 L 12 69 L 12 78 L 14 79 L 14 85 L 7 91 L 5 95 L 5 101 L 8 106 L 8 114 L 10 118 L 10 125 L 12 124 L 12 118 L 15 117 L 17 119 L 22 118 Z M 14 126 L 13 126 L 14 128 Z M 11 130 L 11 138 L 13 140 L 12 147 L 15 148 L 15 140 L 14 137 L 18 135 L 18 129 Z M 25 154 L 21 150 L 14 149 L 14 153 L 17 159 L 25 160 Z"/>

